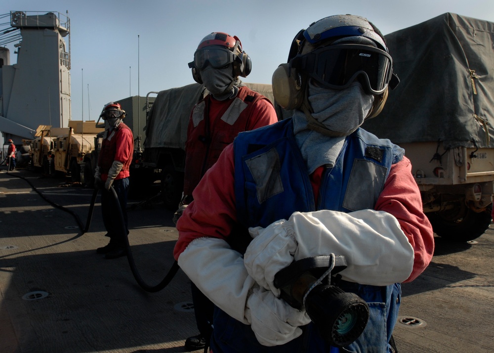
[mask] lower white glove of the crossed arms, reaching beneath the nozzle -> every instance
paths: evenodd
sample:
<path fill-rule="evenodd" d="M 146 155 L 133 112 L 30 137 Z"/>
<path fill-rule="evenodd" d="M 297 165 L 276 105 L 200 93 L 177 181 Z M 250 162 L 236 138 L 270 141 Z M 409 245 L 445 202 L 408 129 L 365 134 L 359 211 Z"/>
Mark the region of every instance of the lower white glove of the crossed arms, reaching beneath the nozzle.
<path fill-rule="evenodd" d="M 223 239 L 194 239 L 180 254 L 178 265 L 218 308 L 251 324 L 262 345 L 287 343 L 302 333 L 298 326 L 310 322 L 305 310 L 291 308 L 260 288 L 247 274 L 242 255 Z"/>

